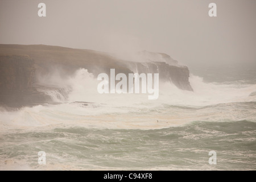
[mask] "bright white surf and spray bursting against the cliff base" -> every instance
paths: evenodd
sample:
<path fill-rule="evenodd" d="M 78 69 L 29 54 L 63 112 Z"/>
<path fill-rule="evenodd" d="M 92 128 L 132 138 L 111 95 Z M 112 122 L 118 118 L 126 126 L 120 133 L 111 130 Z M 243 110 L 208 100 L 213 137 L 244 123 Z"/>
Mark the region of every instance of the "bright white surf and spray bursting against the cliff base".
<path fill-rule="evenodd" d="M 104 103 L 108 105 L 143 106 L 155 104 L 206 106 L 229 102 L 256 101 L 256 97 L 250 96 L 256 90 L 256 85 L 235 85 L 217 83 L 205 83 L 203 78 L 193 76 L 189 78 L 193 92 L 180 90 L 170 82 L 160 82 L 158 100 L 147 100 L 147 94 L 100 94 L 97 92 L 98 80 L 93 78 L 86 69 L 79 69 L 71 83 L 72 92 L 69 93 L 69 101 L 86 101 Z"/>

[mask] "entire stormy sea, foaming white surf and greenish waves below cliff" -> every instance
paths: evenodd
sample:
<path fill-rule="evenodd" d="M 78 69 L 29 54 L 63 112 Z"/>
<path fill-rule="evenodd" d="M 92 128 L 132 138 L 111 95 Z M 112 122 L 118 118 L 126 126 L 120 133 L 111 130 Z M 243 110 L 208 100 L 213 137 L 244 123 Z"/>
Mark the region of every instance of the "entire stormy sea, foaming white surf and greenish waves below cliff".
<path fill-rule="evenodd" d="M 255 170 L 255 73 L 216 82 L 191 75 L 194 92 L 162 83 L 158 100 L 98 94 L 85 69 L 55 75 L 51 84 L 71 90 L 67 99 L 47 91 L 60 104 L 0 108 L 0 169 Z"/>

